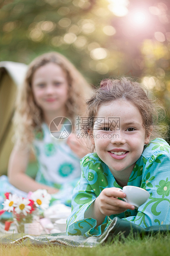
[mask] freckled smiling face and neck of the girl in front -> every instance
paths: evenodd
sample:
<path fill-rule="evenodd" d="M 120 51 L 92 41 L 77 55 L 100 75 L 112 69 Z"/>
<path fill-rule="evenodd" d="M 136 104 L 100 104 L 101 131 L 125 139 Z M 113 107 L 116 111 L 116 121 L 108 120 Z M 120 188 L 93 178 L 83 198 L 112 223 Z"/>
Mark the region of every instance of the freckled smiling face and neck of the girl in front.
<path fill-rule="evenodd" d="M 119 126 L 115 126 L 114 118 L 120 118 Z M 127 100 L 112 101 L 99 107 L 91 140 L 96 153 L 115 178 L 122 172 L 130 176 L 144 144 L 149 143 L 150 135 L 145 134 L 142 124 L 139 109 Z"/>

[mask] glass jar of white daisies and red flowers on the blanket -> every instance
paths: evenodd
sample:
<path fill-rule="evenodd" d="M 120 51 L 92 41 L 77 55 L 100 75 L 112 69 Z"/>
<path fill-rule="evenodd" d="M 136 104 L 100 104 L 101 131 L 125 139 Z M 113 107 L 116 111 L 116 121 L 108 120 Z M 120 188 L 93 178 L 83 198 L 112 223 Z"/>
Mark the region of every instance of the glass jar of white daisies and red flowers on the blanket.
<path fill-rule="evenodd" d="M 27 198 L 11 193 L 5 193 L 5 197 L 2 204 L 3 211 L 12 212 L 17 232 L 39 235 L 40 210 L 47 209 L 51 200 L 51 195 L 47 190 L 39 189 L 29 192 Z"/>

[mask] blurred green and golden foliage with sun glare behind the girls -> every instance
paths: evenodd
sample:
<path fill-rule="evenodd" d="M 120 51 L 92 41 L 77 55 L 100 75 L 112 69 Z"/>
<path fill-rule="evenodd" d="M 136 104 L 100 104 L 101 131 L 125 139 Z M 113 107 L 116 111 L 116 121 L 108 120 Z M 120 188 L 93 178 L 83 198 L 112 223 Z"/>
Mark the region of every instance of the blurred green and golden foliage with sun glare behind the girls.
<path fill-rule="evenodd" d="M 57 51 L 94 86 L 133 76 L 159 97 L 170 125 L 170 0 L 4 0 L 0 21 L 1 61 Z"/>

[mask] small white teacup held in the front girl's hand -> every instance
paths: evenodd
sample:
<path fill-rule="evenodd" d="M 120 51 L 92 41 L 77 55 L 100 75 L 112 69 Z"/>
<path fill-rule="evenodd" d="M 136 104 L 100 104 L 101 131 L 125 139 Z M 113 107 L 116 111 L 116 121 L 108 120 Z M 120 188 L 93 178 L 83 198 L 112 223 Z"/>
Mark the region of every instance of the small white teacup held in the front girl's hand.
<path fill-rule="evenodd" d="M 149 192 L 141 187 L 124 186 L 122 191 L 126 194 L 123 200 L 134 205 L 135 209 L 144 204 L 150 196 Z"/>

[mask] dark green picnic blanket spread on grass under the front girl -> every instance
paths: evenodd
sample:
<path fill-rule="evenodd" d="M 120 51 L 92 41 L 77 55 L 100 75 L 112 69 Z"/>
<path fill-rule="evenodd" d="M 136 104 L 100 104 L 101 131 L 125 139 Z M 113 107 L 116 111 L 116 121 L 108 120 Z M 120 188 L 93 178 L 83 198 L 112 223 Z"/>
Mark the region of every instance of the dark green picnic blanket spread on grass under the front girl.
<path fill-rule="evenodd" d="M 52 243 L 54 245 L 68 246 L 68 247 L 95 247 L 99 244 L 104 244 L 105 242 L 112 241 L 116 236 L 127 237 L 132 234 L 134 237 L 140 235 L 154 235 L 158 232 L 167 233 L 170 232 L 170 225 L 156 225 L 149 228 L 141 228 L 138 225 L 128 222 L 127 220 L 121 220 L 115 217 L 112 222 L 107 227 L 107 230 L 100 236 L 67 236 L 65 233 L 52 234 L 52 235 L 21 235 L 14 234 L 1 237 L 0 243 L 3 244 L 17 244 L 22 243 L 25 245 L 33 246 L 44 246 Z"/>

